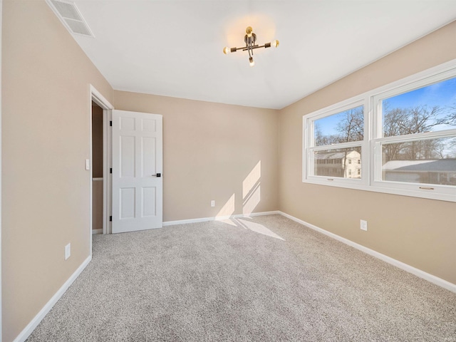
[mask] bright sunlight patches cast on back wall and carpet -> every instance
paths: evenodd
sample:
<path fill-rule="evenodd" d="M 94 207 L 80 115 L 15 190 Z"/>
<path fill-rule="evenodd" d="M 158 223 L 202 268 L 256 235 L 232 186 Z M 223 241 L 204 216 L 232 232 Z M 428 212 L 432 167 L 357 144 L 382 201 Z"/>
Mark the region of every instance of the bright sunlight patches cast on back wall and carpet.
<path fill-rule="evenodd" d="M 249 215 L 254 212 L 261 200 L 261 160 L 255 165 L 249 175 L 245 177 L 242 182 L 242 214 Z M 227 202 L 224 204 L 222 209 L 215 216 L 216 219 L 230 224 L 235 227 L 243 227 L 249 229 L 252 232 L 266 235 L 268 237 L 274 237 L 276 239 L 282 239 L 279 235 L 271 231 L 271 229 L 264 227 L 263 224 L 254 222 L 252 219 L 231 219 L 230 217 L 236 210 L 236 194 L 231 195 Z M 285 240 L 284 240 L 285 241 Z"/>

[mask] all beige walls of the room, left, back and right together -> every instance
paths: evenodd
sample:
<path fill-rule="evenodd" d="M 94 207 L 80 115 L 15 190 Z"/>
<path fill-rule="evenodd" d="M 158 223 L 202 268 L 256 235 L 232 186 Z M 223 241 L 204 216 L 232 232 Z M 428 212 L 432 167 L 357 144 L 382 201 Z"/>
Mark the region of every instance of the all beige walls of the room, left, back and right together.
<path fill-rule="evenodd" d="M 89 83 L 163 115 L 165 221 L 280 208 L 456 283 L 455 203 L 301 182 L 302 115 L 456 58 L 455 23 L 281 111 L 113 91 L 44 1 L 3 1 L 2 32 L 3 341 L 90 254 Z"/>

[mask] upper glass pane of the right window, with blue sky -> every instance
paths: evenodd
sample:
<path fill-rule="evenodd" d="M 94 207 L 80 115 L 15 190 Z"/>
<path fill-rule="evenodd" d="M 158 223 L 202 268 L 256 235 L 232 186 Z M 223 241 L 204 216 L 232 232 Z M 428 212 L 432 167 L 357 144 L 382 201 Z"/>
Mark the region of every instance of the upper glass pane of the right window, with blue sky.
<path fill-rule="evenodd" d="M 456 128 L 456 78 L 382 100 L 383 137 Z"/>

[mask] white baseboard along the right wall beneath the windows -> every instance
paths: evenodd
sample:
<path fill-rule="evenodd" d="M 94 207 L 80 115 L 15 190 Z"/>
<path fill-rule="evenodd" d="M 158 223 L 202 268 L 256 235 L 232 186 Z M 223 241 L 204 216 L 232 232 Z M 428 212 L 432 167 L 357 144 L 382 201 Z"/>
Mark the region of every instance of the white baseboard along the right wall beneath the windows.
<path fill-rule="evenodd" d="M 303 224 L 306 227 L 309 227 L 311 229 L 316 230 L 317 232 L 320 232 L 322 234 L 327 235 L 328 237 L 332 237 L 333 239 L 336 239 L 340 242 L 343 242 L 344 244 L 348 244 L 348 246 L 354 247 L 356 249 L 359 249 L 361 252 L 367 253 L 371 255 L 372 257 L 378 258 L 380 260 L 383 260 L 385 262 L 388 262 L 388 264 L 392 264 L 393 266 L 396 266 L 400 269 L 403 269 L 404 271 L 408 271 L 411 274 L 415 274 L 415 276 L 418 276 L 422 279 L 425 279 L 427 281 L 430 281 L 432 284 L 438 285 L 443 287 L 444 289 L 450 290 L 452 292 L 456 293 L 456 284 L 450 283 L 450 281 L 446 281 L 445 279 L 441 279 L 437 276 L 433 276 L 432 274 L 426 273 L 425 271 L 422 271 L 420 269 L 417 269 L 413 266 L 410 266 L 408 264 L 403 263 L 402 261 L 393 259 L 391 257 L 388 257 L 385 254 L 381 254 L 379 252 L 375 252 L 373 249 L 370 249 L 368 247 L 364 247 L 361 244 L 357 244 L 356 242 L 353 242 L 349 239 L 346 239 L 345 237 L 340 237 L 337 234 L 328 232 L 325 229 L 322 229 L 320 227 L 314 226 L 314 224 L 310 224 L 309 222 L 305 222 L 302 219 L 297 219 L 296 217 L 293 217 L 289 214 L 286 214 L 284 212 L 279 212 L 279 214 L 283 215 L 284 217 L 288 217 L 289 219 L 292 219 L 295 222 L 298 222 L 300 224 Z"/>

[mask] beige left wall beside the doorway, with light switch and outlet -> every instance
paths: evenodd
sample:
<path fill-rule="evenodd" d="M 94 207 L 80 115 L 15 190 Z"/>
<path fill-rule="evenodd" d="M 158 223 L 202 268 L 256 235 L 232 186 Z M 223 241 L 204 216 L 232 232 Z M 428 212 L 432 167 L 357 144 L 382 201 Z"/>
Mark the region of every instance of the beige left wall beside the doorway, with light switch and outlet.
<path fill-rule="evenodd" d="M 112 89 L 44 1 L 3 1 L 3 341 L 89 256 L 90 88 Z M 64 247 L 71 243 L 71 257 Z"/>

